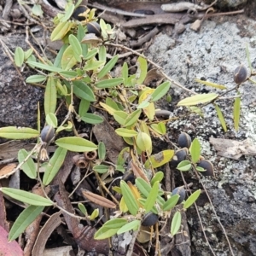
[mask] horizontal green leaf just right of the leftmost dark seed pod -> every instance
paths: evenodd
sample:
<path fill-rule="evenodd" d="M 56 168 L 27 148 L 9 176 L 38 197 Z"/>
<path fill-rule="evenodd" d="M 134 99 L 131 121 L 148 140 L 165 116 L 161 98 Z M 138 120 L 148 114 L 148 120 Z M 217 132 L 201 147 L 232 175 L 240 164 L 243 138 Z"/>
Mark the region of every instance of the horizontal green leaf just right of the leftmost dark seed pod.
<path fill-rule="evenodd" d="M 97 149 L 95 143 L 91 143 L 82 137 L 61 137 L 55 143 L 59 147 L 73 152 L 89 152 Z"/>

